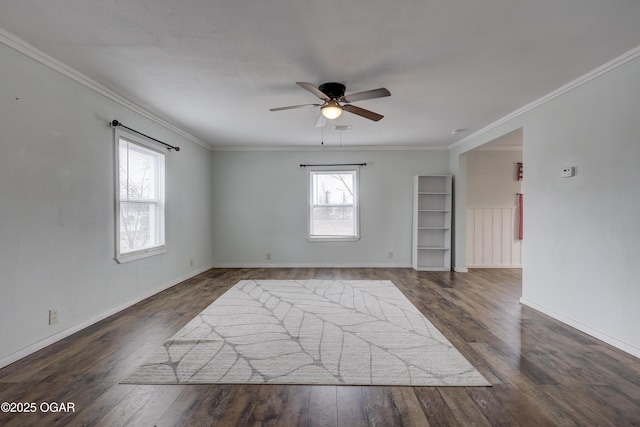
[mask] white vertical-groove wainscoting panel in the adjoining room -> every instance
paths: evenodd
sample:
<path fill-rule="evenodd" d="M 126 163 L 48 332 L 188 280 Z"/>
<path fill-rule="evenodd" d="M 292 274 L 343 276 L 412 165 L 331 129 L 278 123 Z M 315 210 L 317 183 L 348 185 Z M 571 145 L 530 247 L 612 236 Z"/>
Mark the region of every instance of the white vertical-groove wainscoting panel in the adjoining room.
<path fill-rule="evenodd" d="M 467 267 L 522 267 L 518 208 L 467 209 Z"/>

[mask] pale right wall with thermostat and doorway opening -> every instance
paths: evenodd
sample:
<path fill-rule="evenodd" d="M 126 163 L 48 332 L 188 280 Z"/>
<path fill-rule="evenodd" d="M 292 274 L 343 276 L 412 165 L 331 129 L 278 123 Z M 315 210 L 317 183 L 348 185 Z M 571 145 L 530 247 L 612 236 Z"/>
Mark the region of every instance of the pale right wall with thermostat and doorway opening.
<path fill-rule="evenodd" d="M 523 127 L 522 303 L 640 356 L 640 59 L 612 63 L 456 147 L 451 169 Z M 560 177 L 567 166 L 575 177 Z"/>

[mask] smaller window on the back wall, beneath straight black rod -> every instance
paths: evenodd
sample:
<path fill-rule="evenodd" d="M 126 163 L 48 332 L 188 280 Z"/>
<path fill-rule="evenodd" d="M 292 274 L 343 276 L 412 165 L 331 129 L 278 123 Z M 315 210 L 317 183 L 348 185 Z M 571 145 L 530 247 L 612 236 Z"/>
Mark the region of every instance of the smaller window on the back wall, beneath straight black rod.
<path fill-rule="evenodd" d="M 358 222 L 358 170 L 309 171 L 309 239 L 358 240 Z"/>

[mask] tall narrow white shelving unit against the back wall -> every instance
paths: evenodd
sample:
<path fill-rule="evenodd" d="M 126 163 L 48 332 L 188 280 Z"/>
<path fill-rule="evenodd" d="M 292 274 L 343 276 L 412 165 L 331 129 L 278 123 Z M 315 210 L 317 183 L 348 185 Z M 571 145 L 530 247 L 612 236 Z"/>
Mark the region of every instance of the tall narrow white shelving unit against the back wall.
<path fill-rule="evenodd" d="M 418 175 L 413 184 L 415 270 L 451 270 L 451 175 Z"/>

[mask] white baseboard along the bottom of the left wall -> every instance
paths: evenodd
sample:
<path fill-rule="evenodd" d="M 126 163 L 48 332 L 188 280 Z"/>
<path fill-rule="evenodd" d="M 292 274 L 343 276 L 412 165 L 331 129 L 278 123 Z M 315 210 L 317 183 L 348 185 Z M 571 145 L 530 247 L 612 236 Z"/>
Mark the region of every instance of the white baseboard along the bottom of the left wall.
<path fill-rule="evenodd" d="M 205 268 L 200 268 L 198 270 L 194 270 L 194 271 L 190 271 L 188 274 L 185 274 L 181 277 L 178 277 L 176 279 L 173 279 L 169 282 L 166 282 L 158 287 L 152 288 L 147 290 L 146 292 L 144 292 L 141 295 L 138 295 L 137 297 L 126 301 L 116 307 L 113 307 L 103 313 L 100 313 L 97 316 L 94 316 L 90 319 L 85 320 L 84 322 L 80 322 L 78 324 L 75 324 L 63 331 L 60 331 L 54 335 L 51 335 L 43 340 L 40 340 L 38 342 L 35 342 L 33 344 L 31 344 L 28 347 L 25 347 L 21 350 L 16 351 L 15 353 L 11 353 L 8 356 L 3 357 L 2 359 L 0 359 L 0 368 L 4 368 L 5 366 L 8 366 L 14 362 L 17 362 L 18 360 L 22 359 L 23 357 L 26 357 L 32 353 L 35 353 L 36 351 L 42 350 L 43 348 L 57 342 L 60 341 L 61 339 L 64 339 L 70 335 L 75 334 L 78 331 L 83 330 L 84 328 L 87 328 L 95 323 L 98 323 L 101 320 L 106 319 L 109 316 L 113 316 L 114 314 L 124 310 L 125 308 L 129 308 L 132 305 L 145 300 L 155 294 L 158 294 L 166 289 L 169 289 L 172 286 L 177 285 L 178 283 L 184 282 L 187 279 L 190 279 L 191 277 L 197 276 L 200 273 L 204 273 L 207 270 L 210 270 L 212 267 L 205 267 Z"/>

